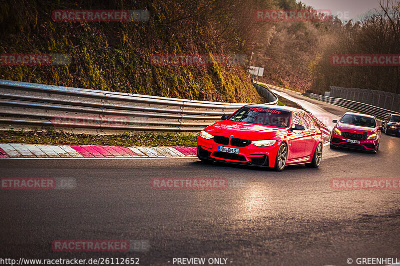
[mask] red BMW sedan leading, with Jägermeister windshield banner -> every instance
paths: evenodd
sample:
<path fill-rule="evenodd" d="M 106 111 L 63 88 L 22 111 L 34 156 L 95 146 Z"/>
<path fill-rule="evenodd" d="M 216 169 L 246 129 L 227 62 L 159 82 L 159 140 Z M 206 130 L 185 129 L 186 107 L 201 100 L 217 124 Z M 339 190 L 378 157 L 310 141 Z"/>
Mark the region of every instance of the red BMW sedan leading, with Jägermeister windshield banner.
<path fill-rule="evenodd" d="M 322 159 L 322 134 L 303 110 L 276 105 L 245 105 L 222 121 L 207 126 L 197 140 L 201 161 L 274 167 Z"/>

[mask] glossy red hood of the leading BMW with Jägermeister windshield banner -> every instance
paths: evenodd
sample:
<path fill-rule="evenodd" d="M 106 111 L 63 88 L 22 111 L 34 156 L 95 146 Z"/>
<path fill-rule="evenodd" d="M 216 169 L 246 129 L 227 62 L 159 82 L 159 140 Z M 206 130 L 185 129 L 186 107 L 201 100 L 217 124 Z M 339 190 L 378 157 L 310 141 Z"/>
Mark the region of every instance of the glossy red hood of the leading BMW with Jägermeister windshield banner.
<path fill-rule="evenodd" d="M 287 132 L 287 128 L 236 122 L 230 120 L 216 122 L 210 126 L 207 126 L 204 130 L 211 135 L 233 135 L 234 138 L 248 140 L 268 139 Z"/>

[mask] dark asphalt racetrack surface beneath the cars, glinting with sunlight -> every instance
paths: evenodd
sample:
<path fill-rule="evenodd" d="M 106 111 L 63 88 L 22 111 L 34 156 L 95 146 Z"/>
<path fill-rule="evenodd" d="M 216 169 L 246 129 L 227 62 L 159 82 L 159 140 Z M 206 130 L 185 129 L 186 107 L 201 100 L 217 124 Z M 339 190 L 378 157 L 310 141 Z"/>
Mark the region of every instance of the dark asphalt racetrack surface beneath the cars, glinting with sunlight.
<path fill-rule="evenodd" d="M 329 181 L 398 178 L 399 149 L 400 138 L 382 134 L 376 155 L 325 147 L 318 169 L 289 166 L 281 173 L 197 159 L 0 159 L 0 177 L 76 181 L 70 190 L 0 190 L 0 258 L 137 257 L 140 265 L 226 258 L 228 265 L 243 266 L 398 258 L 400 191 L 332 190 Z M 241 185 L 151 189 L 150 179 L 161 177 L 227 178 Z M 51 249 L 54 240 L 104 239 L 148 240 L 150 249 Z"/>

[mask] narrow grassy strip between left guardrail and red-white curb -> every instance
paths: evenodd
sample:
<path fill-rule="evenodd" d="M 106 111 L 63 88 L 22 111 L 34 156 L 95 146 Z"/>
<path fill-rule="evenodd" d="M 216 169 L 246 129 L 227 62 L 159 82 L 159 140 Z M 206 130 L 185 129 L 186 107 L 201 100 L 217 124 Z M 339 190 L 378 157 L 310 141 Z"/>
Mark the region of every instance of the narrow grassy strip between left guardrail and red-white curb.
<path fill-rule="evenodd" d="M 197 135 L 166 134 L 120 134 L 86 135 L 55 131 L 1 131 L 0 142 L 29 144 L 79 144 L 110 146 L 196 146 Z"/>

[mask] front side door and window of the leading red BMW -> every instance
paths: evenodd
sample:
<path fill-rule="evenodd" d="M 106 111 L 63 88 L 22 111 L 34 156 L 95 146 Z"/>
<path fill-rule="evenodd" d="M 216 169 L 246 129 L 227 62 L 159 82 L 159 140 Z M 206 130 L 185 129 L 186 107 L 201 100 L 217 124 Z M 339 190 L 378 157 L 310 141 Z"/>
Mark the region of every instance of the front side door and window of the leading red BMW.
<path fill-rule="evenodd" d="M 303 125 L 299 112 L 293 114 L 292 124 Z M 290 129 L 287 134 L 287 140 L 289 143 L 289 153 L 287 155 L 288 160 L 301 158 L 304 156 L 305 142 L 303 130 L 292 130 Z"/>

